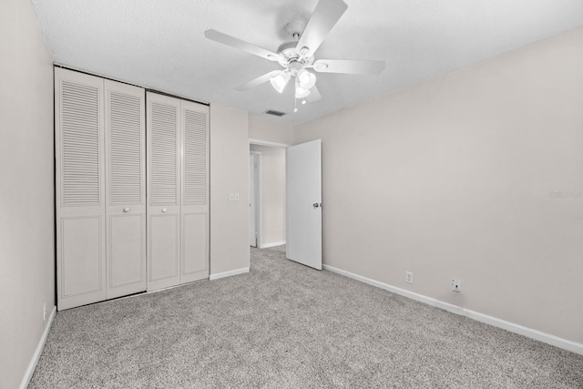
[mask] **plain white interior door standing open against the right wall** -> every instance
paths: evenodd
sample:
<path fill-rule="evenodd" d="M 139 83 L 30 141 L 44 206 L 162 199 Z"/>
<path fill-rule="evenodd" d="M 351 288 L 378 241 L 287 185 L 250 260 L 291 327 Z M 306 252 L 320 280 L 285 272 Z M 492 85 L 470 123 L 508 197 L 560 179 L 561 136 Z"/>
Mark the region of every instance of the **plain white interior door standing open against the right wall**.
<path fill-rule="evenodd" d="M 286 257 L 322 270 L 322 140 L 286 148 Z"/>

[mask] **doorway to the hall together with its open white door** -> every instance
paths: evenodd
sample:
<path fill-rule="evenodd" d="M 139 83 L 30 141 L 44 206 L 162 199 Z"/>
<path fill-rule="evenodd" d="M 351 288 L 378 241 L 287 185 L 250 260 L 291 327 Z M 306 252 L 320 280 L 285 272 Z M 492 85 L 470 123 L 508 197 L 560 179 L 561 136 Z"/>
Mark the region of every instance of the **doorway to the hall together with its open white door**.
<path fill-rule="evenodd" d="M 250 140 L 250 246 L 285 244 L 287 259 L 322 270 L 322 140 L 261 143 Z"/>

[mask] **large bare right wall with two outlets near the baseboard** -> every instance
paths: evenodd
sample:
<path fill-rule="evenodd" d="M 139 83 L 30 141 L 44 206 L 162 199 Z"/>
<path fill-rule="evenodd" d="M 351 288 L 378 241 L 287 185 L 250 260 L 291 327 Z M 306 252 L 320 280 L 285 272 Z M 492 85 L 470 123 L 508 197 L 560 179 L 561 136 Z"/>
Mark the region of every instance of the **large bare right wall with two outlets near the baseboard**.
<path fill-rule="evenodd" d="M 579 27 L 295 128 L 324 263 L 583 343 L 582 69 Z"/>

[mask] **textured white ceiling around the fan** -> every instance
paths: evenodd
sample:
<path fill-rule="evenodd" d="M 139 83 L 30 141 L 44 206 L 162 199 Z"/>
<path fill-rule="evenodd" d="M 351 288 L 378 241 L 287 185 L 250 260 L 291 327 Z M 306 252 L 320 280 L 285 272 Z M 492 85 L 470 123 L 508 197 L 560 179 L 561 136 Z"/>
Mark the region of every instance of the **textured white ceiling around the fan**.
<path fill-rule="evenodd" d="M 32 0 L 53 60 L 297 125 L 583 25 L 583 0 L 344 0 L 316 59 L 380 59 L 379 76 L 317 74 L 322 100 L 293 113 L 292 87 L 233 89 L 277 63 L 206 39 L 214 28 L 276 51 L 317 0 Z"/>

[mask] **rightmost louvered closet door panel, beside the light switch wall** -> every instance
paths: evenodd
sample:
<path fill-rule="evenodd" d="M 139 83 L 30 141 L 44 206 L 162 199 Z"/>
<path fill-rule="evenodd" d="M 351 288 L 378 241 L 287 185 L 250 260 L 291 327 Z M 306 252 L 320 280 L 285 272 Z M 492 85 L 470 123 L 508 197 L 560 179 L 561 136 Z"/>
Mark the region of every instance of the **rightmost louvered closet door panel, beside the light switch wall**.
<path fill-rule="evenodd" d="M 182 261 L 180 282 L 209 277 L 209 107 L 181 102 Z"/>

